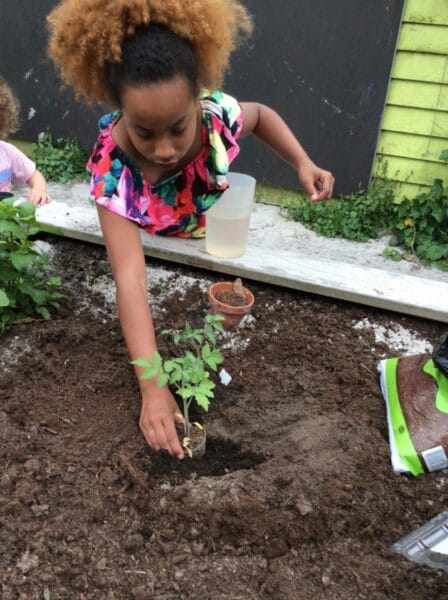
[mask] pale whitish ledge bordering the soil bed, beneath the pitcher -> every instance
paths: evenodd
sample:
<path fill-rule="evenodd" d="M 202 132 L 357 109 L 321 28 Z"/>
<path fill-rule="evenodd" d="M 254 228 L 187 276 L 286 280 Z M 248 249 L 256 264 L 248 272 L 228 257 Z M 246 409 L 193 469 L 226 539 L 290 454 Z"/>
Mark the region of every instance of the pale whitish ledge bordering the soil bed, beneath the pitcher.
<path fill-rule="evenodd" d="M 96 209 L 86 192 L 87 188 L 81 187 L 77 193 L 66 194 L 64 201 L 53 200 L 39 208 L 37 219 L 41 227 L 56 235 L 103 244 Z M 257 211 L 264 210 L 269 212 L 269 227 L 281 227 L 280 210 L 257 205 Z M 141 236 L 147 256 L 448 323 L 446 274 L 430 273 L 434 278 L 425 278 L 421 273 L 414 276 L 400 270 L 333 260 L 331 254 L 314 258 L 309 252 L 275 247 L 272 236 L 270 241 L 263 231 L 257 234 L 251 230 L 245 255 L 234 259 L 210 256 L 205 252 L 204 240 L 151 236 L 144 231 Z M 315 243 L 324 243 L 320 240 Z M 338 240 L 333 242 L 338 244 Z M 353 251 L 358 252 L 363 246 L 352 244 Z"/>

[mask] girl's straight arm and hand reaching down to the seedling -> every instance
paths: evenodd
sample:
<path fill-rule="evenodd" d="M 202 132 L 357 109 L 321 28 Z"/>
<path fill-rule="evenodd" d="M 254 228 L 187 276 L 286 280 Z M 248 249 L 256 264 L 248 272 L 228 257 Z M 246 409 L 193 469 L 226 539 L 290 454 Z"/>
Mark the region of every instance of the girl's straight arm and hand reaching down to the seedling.
<path fill-rule="evenodd" d="M 116 285 L 118 315 L 131 359 L 151 358 L 157 350 L 148 303 L 146 263 L 137 225 L 98 206 L 98 215 Z M 181 421 L 176 401 L 168 387 L 159 388 L 156 378 L 141 380 L 135 367 L 142 409 L 140 428 L 154 450 L 167 450 L 177 458 L 184 454 L 174 426 Z"/>

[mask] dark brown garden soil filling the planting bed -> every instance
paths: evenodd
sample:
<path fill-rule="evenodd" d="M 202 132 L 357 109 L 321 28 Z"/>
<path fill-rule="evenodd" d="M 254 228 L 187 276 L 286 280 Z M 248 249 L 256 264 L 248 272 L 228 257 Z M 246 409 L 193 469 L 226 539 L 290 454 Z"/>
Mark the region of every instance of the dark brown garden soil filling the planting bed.
<path fill-rule="evenodd" d="M 392 543 L 446 509 L 395 475 L 376 374 L 440 323 L 244 281 L 203 459 L 146 446 L 105 251 L 45 238 L 69 299 L 0 338 L 2 600 L 429 600 Z M 148 260 L 157 329 L 201 324 L 218 276 Z M 163 345 L 161 347 L 163 353 Z"/>

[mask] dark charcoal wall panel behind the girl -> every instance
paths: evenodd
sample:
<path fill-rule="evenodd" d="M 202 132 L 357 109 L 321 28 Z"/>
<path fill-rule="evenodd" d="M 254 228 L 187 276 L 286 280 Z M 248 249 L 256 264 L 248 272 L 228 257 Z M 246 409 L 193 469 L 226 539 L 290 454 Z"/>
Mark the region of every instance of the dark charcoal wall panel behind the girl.
<path fill-rule="evenodd" d="M 20 135 L 45 129 L 90 146 L 104 111 L 75 102 L 46 58 L 45 15 L 54 0 L 2 0 L 0 72 L 18 95 Z M 275 108 L 337 192 L 369 182 L 403 0 L 244 0 L 255 32 L 232 58 L 225 89 Z M 259 181 L 296 187 L 295 173 L 253 139 L 242 141 L 235 168 Z"/>

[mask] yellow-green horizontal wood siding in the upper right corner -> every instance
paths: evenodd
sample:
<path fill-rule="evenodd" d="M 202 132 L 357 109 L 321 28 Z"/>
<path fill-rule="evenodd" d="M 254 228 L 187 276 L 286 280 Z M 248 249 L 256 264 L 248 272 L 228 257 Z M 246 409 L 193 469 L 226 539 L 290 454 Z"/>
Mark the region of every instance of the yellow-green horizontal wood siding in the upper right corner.
<path fill-rule="evenodd" d="M 448 0 L 407 0 L 378 141 L 374 176 L 415 196 L 448 184 Z"/>

